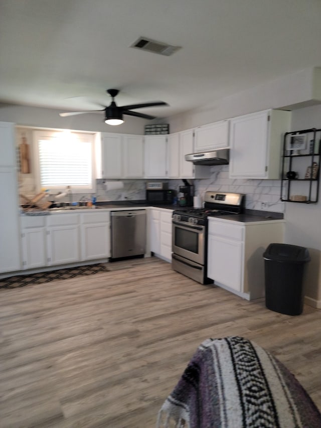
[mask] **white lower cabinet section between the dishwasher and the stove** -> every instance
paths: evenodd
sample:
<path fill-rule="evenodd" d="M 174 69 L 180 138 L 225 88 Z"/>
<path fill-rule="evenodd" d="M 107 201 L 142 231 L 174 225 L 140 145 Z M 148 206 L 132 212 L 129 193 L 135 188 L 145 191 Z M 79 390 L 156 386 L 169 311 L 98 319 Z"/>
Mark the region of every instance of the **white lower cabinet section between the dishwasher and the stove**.
<path fill-rule="evenodd" d="M 157 257 L 172 260 L 173 210 L 149 210 L 149 249 Z"/>

